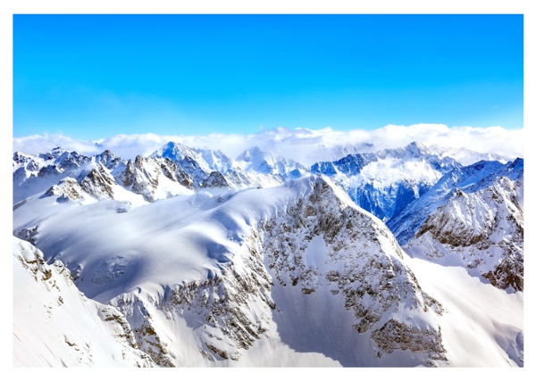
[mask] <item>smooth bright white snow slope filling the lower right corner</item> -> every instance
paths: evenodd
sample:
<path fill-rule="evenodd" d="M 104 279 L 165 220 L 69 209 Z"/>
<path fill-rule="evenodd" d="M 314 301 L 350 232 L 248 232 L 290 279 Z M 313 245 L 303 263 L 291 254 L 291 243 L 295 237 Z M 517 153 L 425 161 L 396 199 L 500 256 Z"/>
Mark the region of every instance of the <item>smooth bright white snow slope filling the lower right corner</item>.
<path fill-rule="evenodd" d="M 438 320 L 451 366 L 523 367 L 523 292 L 484 284 L 459 266 L 408 263 L 448 311 Z"/>

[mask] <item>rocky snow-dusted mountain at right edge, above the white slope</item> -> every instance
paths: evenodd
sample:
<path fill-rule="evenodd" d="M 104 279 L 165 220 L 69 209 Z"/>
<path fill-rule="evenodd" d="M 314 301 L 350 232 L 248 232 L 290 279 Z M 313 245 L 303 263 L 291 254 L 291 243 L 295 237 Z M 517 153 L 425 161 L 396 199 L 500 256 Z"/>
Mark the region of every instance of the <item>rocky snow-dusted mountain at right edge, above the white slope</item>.
<path fill-rule="evenodd" d="M 389 228 L 409 253 L 523 290 L 523 159 L 449 172 Z"/>

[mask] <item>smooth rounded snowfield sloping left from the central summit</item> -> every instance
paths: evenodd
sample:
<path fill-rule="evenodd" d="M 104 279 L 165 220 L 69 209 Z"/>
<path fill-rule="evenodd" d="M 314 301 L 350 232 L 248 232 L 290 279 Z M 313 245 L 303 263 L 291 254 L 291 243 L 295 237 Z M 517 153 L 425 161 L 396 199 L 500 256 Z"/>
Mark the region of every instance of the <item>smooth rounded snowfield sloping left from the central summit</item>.
<path fill-rule="evenodd" d="M 107 302 L 136 286 L 156 292 L 153 287 L 177 280 L 213 278 L 248 224 L 271 217 L 310 187 L 299 185 L 180 195 L 128 213 L 116 201 L 84 205 L 36 197 L 16 211 L 14 230 L 37 225 L 39 248 L 70 268 L 80 265 L 89 275 L 80 279 L 80 289 Z"/>

